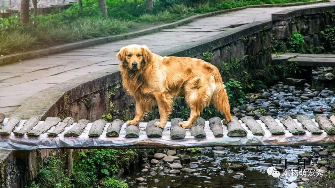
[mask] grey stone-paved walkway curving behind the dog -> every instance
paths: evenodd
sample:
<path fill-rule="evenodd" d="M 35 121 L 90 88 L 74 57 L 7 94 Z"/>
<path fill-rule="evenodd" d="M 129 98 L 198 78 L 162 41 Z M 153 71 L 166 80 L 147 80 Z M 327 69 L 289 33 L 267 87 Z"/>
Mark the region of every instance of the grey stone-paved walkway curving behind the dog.
<path fill-rule="evenodd" d="M 121 47 L 128 44 L 146 44 L 153 52 L 159 54 L 179 45 L 192 45 L 196 41 L 225 32 L 229 30 L 229 27 L 254 21 L 271 20 L 271 14 L 275 12 L 319 5 L 247 8 L 199 19 L 181 27 L 165 29 L 133 39 L 3 65 L 0 67 L 0 112 L 10 115 L 35 93 L 59 82 L 118 66 L 116 53 Z"/>

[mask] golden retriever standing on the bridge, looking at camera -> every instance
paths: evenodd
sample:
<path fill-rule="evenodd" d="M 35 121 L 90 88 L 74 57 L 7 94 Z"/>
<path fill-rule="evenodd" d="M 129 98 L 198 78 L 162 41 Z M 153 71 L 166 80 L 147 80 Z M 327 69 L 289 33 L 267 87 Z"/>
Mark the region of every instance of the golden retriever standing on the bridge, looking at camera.
<path fill-rule="evenodd" d="M 160 121 L 155 126 L 164 128 L 173 109 L 173 99 L 184 96 L 191 109 L 187 122 L 179 125 L 189 129 L 203 108 L 214 104 L 225 115 L 223 123 L 232 118 L 228 96 L 219 70 L 212 64 L 190 57 L 162 57 L 147 46 L 131 44 L 120 49 L 123 87 L 135 98 L 135 118 L 127 125 L 138 125 L 143 116 L 158 105 Z"/>

